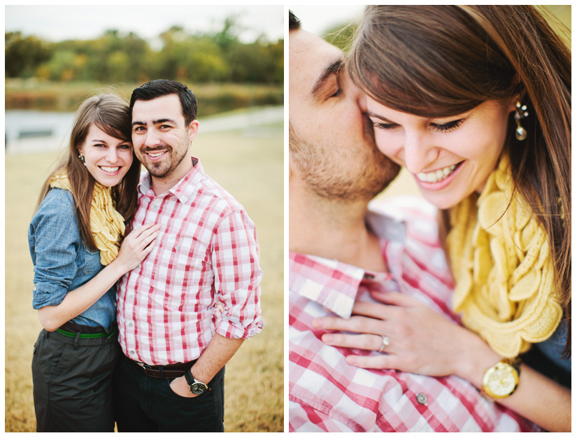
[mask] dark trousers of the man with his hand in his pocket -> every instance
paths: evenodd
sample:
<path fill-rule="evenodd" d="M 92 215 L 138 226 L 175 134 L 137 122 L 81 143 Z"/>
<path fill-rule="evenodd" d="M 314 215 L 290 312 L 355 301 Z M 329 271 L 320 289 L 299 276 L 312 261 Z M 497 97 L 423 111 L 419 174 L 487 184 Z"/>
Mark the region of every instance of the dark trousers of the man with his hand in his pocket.
<path fill-rule="evenodd" d="M 172 380 L 149 377 L 122 355 L 114 373 L 118 432 L 224 432 L 225 368 L 198 397 L 180 397 Z"/>

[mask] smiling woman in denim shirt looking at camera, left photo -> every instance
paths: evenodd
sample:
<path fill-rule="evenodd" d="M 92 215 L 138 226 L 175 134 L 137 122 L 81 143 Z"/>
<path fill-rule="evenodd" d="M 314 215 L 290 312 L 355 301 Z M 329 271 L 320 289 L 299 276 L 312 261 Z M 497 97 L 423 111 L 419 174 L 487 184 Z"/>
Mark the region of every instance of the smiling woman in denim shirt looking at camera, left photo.
<path fill-rule="evenodd" d="M 119 245 L 137 205 L 130 131 L 120 97 L 87 99 L 29 227 L 33 306 L 45 329 L 32 359 L 38 432 L 114 430 L 114 286 L 150 253 L 159 230 L 143 225 Z"/>

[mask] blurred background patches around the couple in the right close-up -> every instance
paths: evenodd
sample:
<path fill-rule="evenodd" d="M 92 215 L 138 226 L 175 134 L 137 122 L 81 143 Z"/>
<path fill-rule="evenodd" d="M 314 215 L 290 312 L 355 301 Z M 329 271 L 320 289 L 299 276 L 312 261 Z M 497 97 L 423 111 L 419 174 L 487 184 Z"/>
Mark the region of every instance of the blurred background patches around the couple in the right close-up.
<path fill-rule="evenodd" d="M 546 14 L 552 18 L 553 27 L 562 29 L 567 27 L 571 30 L 571 5 L 560 6 L 539 6 L 545 8 Z M 301 26 L 306 31 L 312 32 L 329 43 L 336 45 L 342 50 L 347 50 L 350 38 L 357 28 L 357 23 L 362 18 L 364 6 L 362 5 L 339 5 L 327 6 L 289 6 L 290 10 L 299 17 Z M 547 15 L 546 15 L 547 16 Z M 563 31 L 560 31 L 563 35 Z M 571 35 L 565 38 L 571 47 Z M 378 195 L 378 198 L 397 197 L 399 195 L 420 196 L 417 184 L 411 174 L 406 169 L 402 169 L 399 176 Z"/>

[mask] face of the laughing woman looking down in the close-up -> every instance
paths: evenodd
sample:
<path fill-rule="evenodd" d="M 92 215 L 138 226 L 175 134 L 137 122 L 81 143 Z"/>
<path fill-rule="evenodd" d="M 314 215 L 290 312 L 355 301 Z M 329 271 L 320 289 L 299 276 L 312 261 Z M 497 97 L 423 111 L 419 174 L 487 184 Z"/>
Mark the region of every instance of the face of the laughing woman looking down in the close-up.
<path fill-rule="evenodd" d="M 378 148 L 406 167 L 425 199 L 439 209 L 483 190 L 503 150 L 508 114 L 514 109 L 513 103 L 490 100 L 460 115 L 425 118 L 367 101 Z"/>

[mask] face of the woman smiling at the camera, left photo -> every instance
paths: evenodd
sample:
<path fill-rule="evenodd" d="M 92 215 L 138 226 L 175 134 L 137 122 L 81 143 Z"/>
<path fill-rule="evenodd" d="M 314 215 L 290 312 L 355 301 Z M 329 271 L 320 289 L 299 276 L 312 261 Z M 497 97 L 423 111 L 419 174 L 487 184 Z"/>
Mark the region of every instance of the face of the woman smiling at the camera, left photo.
<path fill-rule="evenodd" d="M 109 136 L 94 123 L 79 152 L 84 155 L 86 169 L 106 187 L 120 183 L 132 164 L 132 144 Z"/>

